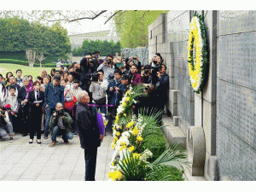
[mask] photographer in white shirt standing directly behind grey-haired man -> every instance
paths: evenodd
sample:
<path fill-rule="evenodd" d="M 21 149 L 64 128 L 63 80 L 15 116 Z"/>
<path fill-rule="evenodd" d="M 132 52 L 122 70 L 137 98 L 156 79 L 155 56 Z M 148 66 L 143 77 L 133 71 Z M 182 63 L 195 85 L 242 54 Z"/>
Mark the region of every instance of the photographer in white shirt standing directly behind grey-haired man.
<path fill-rule="evenodd" d="M 106 90 L 108 90 L 108 81 L 104 78 L 103 70 L 92 74 L 90 92 L 93 102 L 97 105 L 106 105 Z M 106 114 L 106 107 L 100 107 L 101 112 Z"/>

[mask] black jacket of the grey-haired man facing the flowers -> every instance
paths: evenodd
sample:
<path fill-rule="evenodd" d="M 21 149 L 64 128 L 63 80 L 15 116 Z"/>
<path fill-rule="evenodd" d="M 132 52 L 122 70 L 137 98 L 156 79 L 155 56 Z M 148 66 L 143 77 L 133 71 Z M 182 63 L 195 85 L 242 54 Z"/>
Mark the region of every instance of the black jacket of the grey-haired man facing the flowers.
<path fill-rule="evenodd" d="M 76 111 L 81 148 L 97 148 L 101 145 L 100 131 L 91 109 L 79 102 Z"/>

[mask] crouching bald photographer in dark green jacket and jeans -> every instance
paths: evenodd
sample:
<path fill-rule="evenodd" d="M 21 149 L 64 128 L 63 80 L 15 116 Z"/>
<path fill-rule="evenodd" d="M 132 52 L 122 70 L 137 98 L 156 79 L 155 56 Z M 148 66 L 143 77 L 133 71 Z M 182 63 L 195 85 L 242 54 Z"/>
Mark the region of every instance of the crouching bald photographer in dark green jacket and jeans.
<path fill-rule="evenodd" d="M 73 139 L 73 133 L 71 131 L 72 123 L 73 119 L 67 112 L 64 112 L 62 103 L 58 102 L 55 107 L 55 112 L 49 120 L 49 130 L 52 135 L 50 147 L 55 146 L 58 136 L 62 136 L 64 143 L 68 143 L 68 139 Z"/>

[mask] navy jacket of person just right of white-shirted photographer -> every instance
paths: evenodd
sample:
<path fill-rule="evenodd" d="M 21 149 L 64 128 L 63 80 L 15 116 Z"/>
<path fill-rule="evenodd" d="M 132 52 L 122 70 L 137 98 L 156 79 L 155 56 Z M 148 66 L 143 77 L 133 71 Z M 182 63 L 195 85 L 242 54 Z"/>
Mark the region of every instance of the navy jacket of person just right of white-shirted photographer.
<path fill-rule="evenodd" d="M 118 87 L 119 91 L 116 90 L 111 91 L 110 87 Z M 119 102 L 122 100 L 123 92 L 124 92 L 124 84 L 121 81 L 116 81 L 115 79 L 110 80 L 108 84 L 108 90 L 106 91 L 108 94 L 108 104 L 111 105 L 119 105 Z"/>

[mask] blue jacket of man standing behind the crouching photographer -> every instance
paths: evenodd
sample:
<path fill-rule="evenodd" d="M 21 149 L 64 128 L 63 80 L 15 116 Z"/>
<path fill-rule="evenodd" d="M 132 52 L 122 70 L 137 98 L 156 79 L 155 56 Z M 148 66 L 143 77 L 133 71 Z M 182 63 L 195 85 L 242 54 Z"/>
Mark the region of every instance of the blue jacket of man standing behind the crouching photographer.
<path fill-rule="evenodd" d="M 53 83 L 48 84 L 44 90 L 44 106 L 49 105 L 51 108 L 55 108 L 58 102 L 64 103 L 64 87 L 59 84 L 54 87 Z"/>

